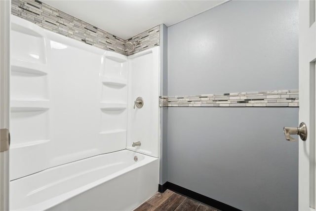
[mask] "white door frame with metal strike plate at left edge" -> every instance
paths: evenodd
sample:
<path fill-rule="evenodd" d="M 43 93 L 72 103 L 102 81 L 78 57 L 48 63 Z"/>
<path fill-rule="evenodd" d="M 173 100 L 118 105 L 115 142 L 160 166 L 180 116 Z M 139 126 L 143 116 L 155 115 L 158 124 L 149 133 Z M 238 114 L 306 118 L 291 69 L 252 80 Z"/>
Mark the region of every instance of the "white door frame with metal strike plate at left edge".
<path fill-rule="evenodd" d="M 11 1 L 0 0 L 0 211 L 9 210 L 9 76 Z"/>

